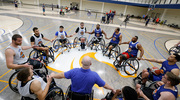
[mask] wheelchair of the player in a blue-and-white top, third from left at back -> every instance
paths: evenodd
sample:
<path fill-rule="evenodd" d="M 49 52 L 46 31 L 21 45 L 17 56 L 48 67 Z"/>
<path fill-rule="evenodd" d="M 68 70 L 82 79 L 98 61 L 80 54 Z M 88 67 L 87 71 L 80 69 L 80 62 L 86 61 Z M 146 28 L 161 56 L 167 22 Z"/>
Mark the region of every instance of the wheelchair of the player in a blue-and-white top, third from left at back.
<path fill-rule="evenodd" d="M 58 50 L 60 50 L 60 52 L 62 52 L 63 54 L 63 48 L 66 47 L 66 49 L 68 50 L 68 52 L 70 51 L 71 49 L 71 43 L 68 39 L 65 40 L 65 43 L 61 43 L 60 42 L 60 39 L 56 39 L 53 43 L 53 48 L 54 48 L 54 51 L 57 52 Z"/>

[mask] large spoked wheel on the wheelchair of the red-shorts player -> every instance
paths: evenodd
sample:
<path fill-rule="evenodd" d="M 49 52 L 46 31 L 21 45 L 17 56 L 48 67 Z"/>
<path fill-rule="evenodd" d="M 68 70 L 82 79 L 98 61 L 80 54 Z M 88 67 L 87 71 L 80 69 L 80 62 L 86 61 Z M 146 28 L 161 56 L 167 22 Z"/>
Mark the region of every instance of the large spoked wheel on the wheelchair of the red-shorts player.
<path fill-rule="evenodd" d="M 135 58 L 129 58 L 123 62 L 124 71 L 128 75 L 134 75 L 139 69 L 139 61 Z"/>

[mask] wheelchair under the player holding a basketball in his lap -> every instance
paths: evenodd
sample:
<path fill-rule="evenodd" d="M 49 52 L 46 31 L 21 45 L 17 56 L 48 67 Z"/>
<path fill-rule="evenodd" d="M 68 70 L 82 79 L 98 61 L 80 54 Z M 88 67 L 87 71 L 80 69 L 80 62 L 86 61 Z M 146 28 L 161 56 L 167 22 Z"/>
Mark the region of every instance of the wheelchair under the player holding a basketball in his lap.
<path fill-rule="evenodd" d="M 159 86 L 156 84 L 158 81 L 153 81 L 153 73 L 151 72 L 150 68 L 147 68 L 148 72 L 149 72 L 149 76 L 148 78 L 144 78 L 147 79 L 146 84 L 143 84 L 143 87 L 148 87 L 151 89 L 157 89 Z M 142 85 L 142 80 L 144 80 L 142 78 L 142 72 L 139 73 L 139 75 L 137 77 L 135 77 L 133 79 L 134 85 L 136 86 L 136 84 L 141 84 Z"/>

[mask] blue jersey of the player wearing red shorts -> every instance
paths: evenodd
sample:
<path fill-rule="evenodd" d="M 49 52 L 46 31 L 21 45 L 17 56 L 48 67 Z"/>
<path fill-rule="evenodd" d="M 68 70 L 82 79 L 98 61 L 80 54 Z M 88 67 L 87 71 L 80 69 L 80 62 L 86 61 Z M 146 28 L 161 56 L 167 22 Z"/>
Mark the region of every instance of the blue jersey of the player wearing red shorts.
<path fill-rule="evenodd" d="M 134 57 L 137 56 L 138 54 L 138 48 L 136 47 L 136 45 L 138 44 L 139 42 L 136 42 L 136 43 L 133 43 L 132 41 L 129 43 L 129 48 L 126 52 L 132 54 Z"/>

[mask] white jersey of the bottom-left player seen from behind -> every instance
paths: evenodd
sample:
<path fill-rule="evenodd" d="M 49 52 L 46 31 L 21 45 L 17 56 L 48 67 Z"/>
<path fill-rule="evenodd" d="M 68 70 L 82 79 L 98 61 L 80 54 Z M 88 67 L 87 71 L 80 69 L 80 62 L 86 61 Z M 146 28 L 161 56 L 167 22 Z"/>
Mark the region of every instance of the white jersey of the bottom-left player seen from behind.
<path fill-rule="evenodd" d="M 19 91 L 20 95 L 22 95 L 24 97 L 29 97 L 29 98 L 32 98 L 32 99 L 37 98 L 35 94 L 30 93 L 30 85 L 34 80 L 38 80 L 41 83 L 42 90 L 45 89 L 47 83 L 44 82 L 44 80 L 41 77 L 34 75 L 33 78 L 34 79 L 27 82 L 26 85 L 24 85 L 24 86 L 22 86 L 21 81 L 18 81 L 18 91 Z"/>

